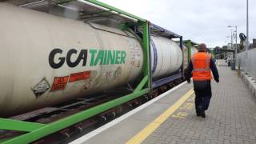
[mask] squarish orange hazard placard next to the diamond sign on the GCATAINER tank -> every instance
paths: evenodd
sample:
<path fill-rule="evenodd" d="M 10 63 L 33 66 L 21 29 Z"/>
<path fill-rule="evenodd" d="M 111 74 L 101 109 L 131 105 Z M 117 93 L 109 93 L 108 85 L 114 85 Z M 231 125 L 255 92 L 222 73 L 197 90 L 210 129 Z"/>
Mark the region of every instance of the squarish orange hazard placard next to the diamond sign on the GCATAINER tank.
<path fill-rule="evenodd" d="M 56 77 L 54 78 L 53 86 L 51 86 L 51 91 L 55 90 L 64 90 L 66 88 L 66 83 L 69 79 L 69 76 L 66 77 Z"/>

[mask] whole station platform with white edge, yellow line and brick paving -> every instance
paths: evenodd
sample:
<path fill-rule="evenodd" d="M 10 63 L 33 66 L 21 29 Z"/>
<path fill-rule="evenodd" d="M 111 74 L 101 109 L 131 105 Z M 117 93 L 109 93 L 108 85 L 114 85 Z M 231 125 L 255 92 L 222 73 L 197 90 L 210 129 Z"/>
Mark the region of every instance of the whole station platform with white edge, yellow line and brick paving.
<path fill-rule="evenodd" d="M 220 82 L 206 118 L 194 110 L 193 85 L 181 85 L 71 143 L 256 143 L 256 98 L 218 61 Z"/>

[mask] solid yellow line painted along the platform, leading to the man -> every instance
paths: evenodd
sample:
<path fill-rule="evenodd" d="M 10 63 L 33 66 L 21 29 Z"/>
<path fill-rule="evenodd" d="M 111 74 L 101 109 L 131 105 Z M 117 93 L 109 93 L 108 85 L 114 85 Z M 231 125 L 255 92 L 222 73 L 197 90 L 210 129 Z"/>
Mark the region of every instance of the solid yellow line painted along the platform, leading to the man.
<path fill-rule="evenodd" d="M 182 98 L 179 98 L 178 101 L 174 103 L 174 105 L 170 106 L 165 112 L 159 115 L 158 118 L 154 119 L 154 122 L 150 122 L 150 124 L 147 125 L 138 134 L 134 135 L 133 138 L 130 138 L 130 140 L 127 141 L 126 144 L 136 144 L 144 141 L 151 133 L 154 132 L 154 130 L 158 128 L 158 126 L 162 124 L 162 122 L 165 122 L 171 114 L 174 114 L 174 112 L 178 110 L 180 106 L 182 106 L 182 103 L 186 102 L 186 100 L 190 98 L 192 94 L 194 94 L 193 89 L 189 90 L 186 94 L 182 96 Z"/>

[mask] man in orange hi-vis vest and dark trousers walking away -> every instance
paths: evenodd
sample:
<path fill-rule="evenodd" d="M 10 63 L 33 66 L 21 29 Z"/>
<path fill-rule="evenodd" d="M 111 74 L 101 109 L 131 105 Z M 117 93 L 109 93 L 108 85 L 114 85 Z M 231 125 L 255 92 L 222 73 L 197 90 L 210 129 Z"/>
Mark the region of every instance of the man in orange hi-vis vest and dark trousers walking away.
<path fill-rule="evenodd" d="M 205 110 L 208 109 L 210 104 L 210 80 L 212 79 L 210 70 L 214 75 L 214 80 L 219 82 L 214 58 L 211 58 L 211 54 L 206 53 L 206 45 L 202 43 L 198 46 L 198 53 L 192 56 L 186 74 L 188 83 L 190 83 L 190 78 L 193 77 L 195 110 L 197 116 L 202 116 L 202 118 L 206 118 Z"/>

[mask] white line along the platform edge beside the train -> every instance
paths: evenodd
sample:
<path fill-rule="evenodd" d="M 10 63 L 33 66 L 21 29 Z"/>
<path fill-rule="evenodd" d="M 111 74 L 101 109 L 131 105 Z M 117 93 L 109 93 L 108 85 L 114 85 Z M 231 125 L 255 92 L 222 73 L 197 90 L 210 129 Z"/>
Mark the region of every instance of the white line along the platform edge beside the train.
<path fill-rule="evenodd" d="M 118 124 L 122 120 L 124 120 L 124 119 L 130 117 L 131 115 L 136 114 L 138 111 L 146 108 L 146 106 L 150 106 L 152 103 L 154 103 L 154 102 L 158 101 L 159 99 L 165 97 L 167 94 L 170 94 L 174 90 L 177 90 L 179 87 L 183 86 L 185 83 L 186 82 L 182 82 L 178 86 L 175 86 L 174 88 L 172 88 L 172 89 L 166 91 L 165 93 L 159 95 L 157 98 L 154 98 L 154 99 L 150 100 L 149 102 L 144 103 L 142 106 L 138 106 L 134 110 L 130 110 L 130 112 L 128 112 L 126 114 L 123 114 L 121 117 L 116 118 L 113 121 L 106 123 L 106 125 L 101 126 L 98 129 L 91 131 L 90 133 L 82 136 L 81 138 L 78 138 L 78 139 L 74 140 L 73 142 L 70 142 L 70 144 L 78 144 L 78 143 L 86 142 L 88 139 L 94 137 L 97 134 L 102 133 L 102 131 L 104 131 L 104 130 L 106 130 L 106 129 L 108 129 L 108 128 L 116 125 L 116 124 Z"/>

